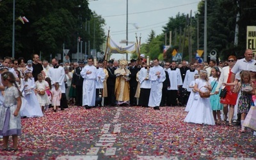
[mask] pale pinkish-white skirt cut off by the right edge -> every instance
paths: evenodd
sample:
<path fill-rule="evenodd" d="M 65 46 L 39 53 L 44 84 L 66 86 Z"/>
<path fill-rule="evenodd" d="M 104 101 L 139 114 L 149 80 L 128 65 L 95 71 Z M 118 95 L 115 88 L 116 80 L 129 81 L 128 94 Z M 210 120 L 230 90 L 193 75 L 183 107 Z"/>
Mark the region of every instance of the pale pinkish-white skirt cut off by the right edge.
<path fill-rule="evenodd" d="M 255 106 L 251 106 L 250 110 L 246 115 L 246 118 L 244 119 L 243 125 L 244 127 L 248 127 L 256 131 L 256 107 Z"/>

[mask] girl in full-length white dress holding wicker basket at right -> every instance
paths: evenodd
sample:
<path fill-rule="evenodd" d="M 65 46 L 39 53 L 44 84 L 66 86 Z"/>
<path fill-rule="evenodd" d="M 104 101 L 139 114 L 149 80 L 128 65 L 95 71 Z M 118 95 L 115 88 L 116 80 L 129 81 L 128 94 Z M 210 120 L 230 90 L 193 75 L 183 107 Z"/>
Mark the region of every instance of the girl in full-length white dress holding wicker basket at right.
<path fill-rule="evenodd" d="M 195 80 L 195 99 L 184 122 L 215 125 L 210 99 L 199 95 L 199 92 L 211 91 L 211 84 L 208 82 L 206 70 L 200 70 L 199 73 L 200 78 Z"/>

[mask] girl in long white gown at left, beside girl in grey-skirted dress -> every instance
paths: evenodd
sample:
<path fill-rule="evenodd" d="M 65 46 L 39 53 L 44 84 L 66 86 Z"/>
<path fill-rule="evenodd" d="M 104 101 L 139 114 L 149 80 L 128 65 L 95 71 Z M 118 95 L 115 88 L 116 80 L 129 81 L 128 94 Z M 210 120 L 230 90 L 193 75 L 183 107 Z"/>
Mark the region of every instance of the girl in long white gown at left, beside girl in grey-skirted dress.
<path fill-rule="evenodd" d="M 42 109 L 36 94 L 34 92 L 35 79 L 32 76 L 31 70 L 25 70 L 24 78 L 20 81 L 20 90 L 23 97 L 27 100 L 26 106 L 20 109 L 20 115 L 26 117 L 38 117 L 43 116 Z"/>

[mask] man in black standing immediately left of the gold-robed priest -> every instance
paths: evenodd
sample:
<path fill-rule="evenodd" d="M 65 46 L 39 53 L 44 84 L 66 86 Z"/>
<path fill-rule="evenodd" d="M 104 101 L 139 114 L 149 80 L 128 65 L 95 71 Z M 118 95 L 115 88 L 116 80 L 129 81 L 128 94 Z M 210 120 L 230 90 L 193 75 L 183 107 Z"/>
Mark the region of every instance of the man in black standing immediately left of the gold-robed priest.
<path fill-rule="evenodd" d="M 115 106 L 116 105 L 116 98 L 115 98 L 115 83 L 116 83 L 116 76 L 115 70 L 116 68 L 113 67 L 113 60 L 109 60 L 108 64 L 108 79 L 107 79 L 107 88 L 108 88 L 108 98 L 104 100 L 104 106 Z"/>

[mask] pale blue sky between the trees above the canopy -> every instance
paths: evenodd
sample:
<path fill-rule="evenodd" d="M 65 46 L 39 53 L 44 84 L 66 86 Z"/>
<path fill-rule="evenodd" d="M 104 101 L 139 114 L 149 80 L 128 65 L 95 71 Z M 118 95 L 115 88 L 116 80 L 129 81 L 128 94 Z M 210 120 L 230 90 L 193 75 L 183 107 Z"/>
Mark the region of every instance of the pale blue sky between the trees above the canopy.
<path fill-rule="evenodd" d="M 197 11 L 199 0 L 128 0 L 128 42 L 147 42 L 152 30 L 156 35 L 163 33 L 170 17 L 177 13 L 190 14 Z M 89 8 L 106 20 L 105 34 L 116 43 L 126 39 L 127 0 L 89 0 Z M 135 24 L 135 25 L 134 25 Z M 138 29 L 135 28 L 138 27 Z M 125 45 L 125 44 L 120 44 Z"/>

